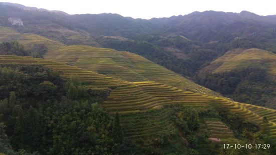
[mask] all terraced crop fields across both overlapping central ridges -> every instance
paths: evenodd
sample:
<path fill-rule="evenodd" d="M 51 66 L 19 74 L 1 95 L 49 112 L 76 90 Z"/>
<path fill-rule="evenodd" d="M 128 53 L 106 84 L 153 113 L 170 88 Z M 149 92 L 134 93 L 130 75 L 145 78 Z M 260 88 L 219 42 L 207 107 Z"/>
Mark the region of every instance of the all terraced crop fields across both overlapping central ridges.
<path fill-rule="evenodd" d="M 0 55 L 0 64 L 42 64 L 63 77 L 76 76 L 87 88 L 110 88 L 111 93 L 102 106 L 110 113 L 118 111 L 122 115 L 125 133 L 130 138 L 159 136 L 162 131 L 175 134 L 175 127 L 166 118 L 170 109 L 163 108 L 170 104 L 196 109 L 220 104 L 260 124 L 276 138 L 276 110 L 232 101 L 137 54 L 87 45 L 66 46 L 39 35 L 3 31 L 0 28 L 0 41 L 18 40 L 24 45 L 44 43 L 49 51 L 46 59 Z M 267 123 L 263 122 L 264 116 Z M 232 136 L 220 120 L 206 120 L 205 124 L 209 136 L 222 139 Z"/>

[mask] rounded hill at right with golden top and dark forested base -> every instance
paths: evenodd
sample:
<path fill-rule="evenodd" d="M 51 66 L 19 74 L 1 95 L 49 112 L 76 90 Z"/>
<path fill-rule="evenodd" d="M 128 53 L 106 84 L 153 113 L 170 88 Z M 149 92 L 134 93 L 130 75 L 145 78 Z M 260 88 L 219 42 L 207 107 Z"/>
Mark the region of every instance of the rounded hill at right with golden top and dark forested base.
<path fill-rule="evenodd" d="M 237 48 L 212 61 L 197 74 L 202 85 L 234 100 L 276 108 L 276 54 Z"/>

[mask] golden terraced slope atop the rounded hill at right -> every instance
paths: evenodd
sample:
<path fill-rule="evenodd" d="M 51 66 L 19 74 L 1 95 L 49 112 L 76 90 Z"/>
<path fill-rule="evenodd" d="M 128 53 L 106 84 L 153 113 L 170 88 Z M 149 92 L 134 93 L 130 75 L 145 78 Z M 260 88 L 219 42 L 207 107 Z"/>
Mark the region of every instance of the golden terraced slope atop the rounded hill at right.
<path fill-rule="evenodd" d="M 225 72 L 236 68 L 259 65 L 268 68 L 270 74 L 276 75 L 276 54 L 258 49 L 234 49 L 226 52 L 202 71 Z"/>

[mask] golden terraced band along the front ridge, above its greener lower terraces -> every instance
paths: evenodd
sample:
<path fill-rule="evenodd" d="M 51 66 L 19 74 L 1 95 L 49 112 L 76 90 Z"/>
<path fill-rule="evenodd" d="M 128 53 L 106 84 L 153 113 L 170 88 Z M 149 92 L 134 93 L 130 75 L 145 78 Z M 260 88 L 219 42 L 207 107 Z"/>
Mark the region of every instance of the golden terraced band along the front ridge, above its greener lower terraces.
<path fill-rule="evenodd" d="M 112 91 L 109 97 L 102 104 L 102 106 L 111 113 L 118 111 L 121 114 L 138 114 L 141 112 L 143 113 L 143 111 L 150 111 L 151 109 L 156 109 L 158 111 L 159 108 L 162 109 L 163 105 L 171 104 L 192 106 L 197 109 L 206 109 L 212 106 L 212 104 L 220 104 L 228 108 L 231 112 L 237 113 L 249 121 L 260 124 L 272 137 L 276 137 L 276 110 L 273 109 L 239 103 L 224 97 L 184 91 L 183 89 L 168 84 L 153 81 L 128 82 L 93 71 L 84 70 L 76 66 L 30 56 L 1 55 L 0 64 L 47 65 L 53 70 L 59 71 L 64 77 L 70 78 L 72 75 L 79 77 L 87 88 L 111 88 Z M 263 122 L 263 116 L 267 117 L 267 123 Z M 147 117 L 144 118 L 147 119 Z M 123 121 L 137 123 L 136 119 L 123 119 Z M 124 125 L 129 126 L 130 124 L 128 123 Z M 130 129 L 128 130 L 129 136 L 135 137 L 142 133 L 148 134 L 147 130 L 151 130 L 157 125 L 155 123 L 149 123 L 146 126 L 148 127 L 135 132 L 132 132 L 128 127 L 126 128 Z M 215 130 L 213 129 L 213 131 Z M 227 134 L 230 134 L 230 131 L 226 131 Z M 213 133 L 217 133 L 217 131 Z M 219 138 L 223 138 L 223 134 L 220 135 L 221 137 Z M 219 136 L 219 134 L 216 134 L 216 136 Z"/>

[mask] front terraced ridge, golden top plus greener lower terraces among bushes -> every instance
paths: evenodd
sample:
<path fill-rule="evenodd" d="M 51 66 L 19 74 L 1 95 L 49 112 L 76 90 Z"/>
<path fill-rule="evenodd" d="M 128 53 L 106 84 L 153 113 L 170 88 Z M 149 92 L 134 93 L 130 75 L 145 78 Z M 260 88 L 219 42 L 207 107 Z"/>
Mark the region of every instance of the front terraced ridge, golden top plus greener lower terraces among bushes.
<path fill-rule="evenodd" d="M 134 140 L 137 144 L 141 144 L 141 140 L 139 139 L 142 138 L 145 141 L 144 146 L 145 143 L 152 146 L 151 139 L 156 137 L 165 136 L 172 138 L 178 134 L 178 127 L 170 116 L 171 112 L 175 110 L 173 104 L 180 104 L 186 108 L 194 107 L 203 113 L 204 111 L 208 111 L 208 109 L 214 109 L 214 106 L 222 106 L 224 110 L 229 109 L 230 112 L 242 117 L 243 121 L 248 121 L 248 123 L 254 122 L 260 125 L 262 130 L 269 132 L 271 138 L 276 136 L 276 112 L 272 109 L 234 102 L 224 97 L 183 91 L 176 87 L 157 82 L 128 82 L 118 80 L 78 67 L 30 56 L 0 56 L 0 64 L 4 66 L 42 64 L 60 72 L 64 77 L 77 76 L 91 90 L 111 88 L 111 93 L 102 106 L 112 113 L 119 111 L 122 114 L 122 125 L 125 130 L 125 136 Z M 179 108 L 176 109 L 179 110 Z M 215 136 L 216 138 L 225 140 L 233 137 L 232 131 L 227 129 L 228 127 L 221 122 L 219 117 L 216 115 L 208 116 L 208 112 L 206 114 L 205 116 L 203 115 L 206 120 L 203 119 L 202 121 L 209 129 L 207 136 Z M 223 112 L 223 114 L 226 113 Z M 266 117 L 267 122 L 263 121 L 263 116 Z M 149 117 L 151 119 L 148 119 Z M 141 122 L 143 123 L 141 124 Z M 181 141 L 177 138 L 173 139 L 177 140 L 178 144 Z M 198 149 L 200 148 L 199 151 L 204 152 L 207 147 L 203 148 L 199 145 Z M 176 151 L 176 148 L 166 148 L 165 150 L 167 149 Z"/>

